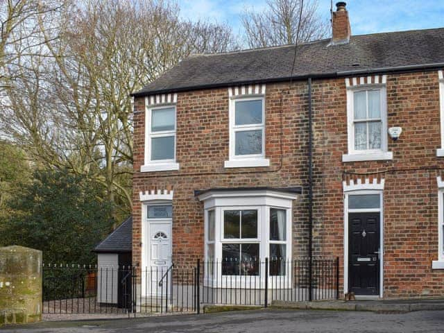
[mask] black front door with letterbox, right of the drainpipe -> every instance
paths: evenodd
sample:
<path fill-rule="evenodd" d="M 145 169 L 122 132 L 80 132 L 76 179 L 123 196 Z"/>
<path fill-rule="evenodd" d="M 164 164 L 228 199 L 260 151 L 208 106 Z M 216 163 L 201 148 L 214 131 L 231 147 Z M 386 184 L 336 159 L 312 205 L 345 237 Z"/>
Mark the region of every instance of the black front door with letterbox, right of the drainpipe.
<path fill-rule="evenodd" d="M 355 295 L 379 295 L 379 212 L 348 214 L 348 286 Z"/>

